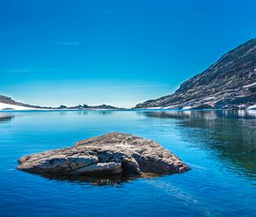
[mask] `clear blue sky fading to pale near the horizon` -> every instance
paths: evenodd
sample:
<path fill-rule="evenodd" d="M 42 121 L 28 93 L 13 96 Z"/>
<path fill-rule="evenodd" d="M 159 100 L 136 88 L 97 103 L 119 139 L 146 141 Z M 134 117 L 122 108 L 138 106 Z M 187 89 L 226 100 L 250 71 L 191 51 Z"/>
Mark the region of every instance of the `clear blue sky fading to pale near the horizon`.
<path fill-rule="evenodd" d="M 256 37 L 256 1 L 0 1 L 0 94 L 130 107 Z"/>

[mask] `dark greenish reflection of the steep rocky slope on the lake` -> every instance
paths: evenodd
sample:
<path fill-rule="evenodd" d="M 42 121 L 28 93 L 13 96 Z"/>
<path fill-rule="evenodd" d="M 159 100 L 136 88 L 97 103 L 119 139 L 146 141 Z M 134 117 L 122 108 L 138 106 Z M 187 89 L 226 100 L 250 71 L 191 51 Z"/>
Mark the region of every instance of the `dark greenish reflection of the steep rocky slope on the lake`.
<path fill-rule="evenodd" d="M 256 111 L 138 111 L 146 117 L 177 119 L 183 140 L 217 152 L 236 173 L 256 178 Z M 191 130 L 189 130 L 190 128 Z M 200 130 L 196 130 L 200 128 Z M 202 130 L 203 129 L 203 130 Z M 229 167 L 228 165 L 228 167 Z"/>

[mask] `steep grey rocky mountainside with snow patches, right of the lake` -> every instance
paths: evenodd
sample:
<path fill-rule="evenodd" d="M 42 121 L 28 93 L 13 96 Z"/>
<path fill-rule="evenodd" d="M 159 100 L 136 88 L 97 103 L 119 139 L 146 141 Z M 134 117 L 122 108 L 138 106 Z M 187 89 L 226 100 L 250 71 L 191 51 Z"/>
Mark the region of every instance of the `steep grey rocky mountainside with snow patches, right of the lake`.
<path fill-rule="evenodd" d="M 256 105 L 256 39 L 224 54 L 174 94 L 135 108 L 246 109 Z"/>

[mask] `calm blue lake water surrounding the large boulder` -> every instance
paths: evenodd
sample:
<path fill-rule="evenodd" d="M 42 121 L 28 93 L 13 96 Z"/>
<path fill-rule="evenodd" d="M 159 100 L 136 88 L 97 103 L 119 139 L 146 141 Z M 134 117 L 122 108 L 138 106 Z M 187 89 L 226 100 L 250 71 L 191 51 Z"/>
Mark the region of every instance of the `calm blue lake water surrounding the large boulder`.
<path fill-rule="evenodd" d="M 192 168 L 106 186 L 15 169 L 108 132 L 156 140 Z M 0 112 L 0 216 L 255 216 L 256 111 Z"/>

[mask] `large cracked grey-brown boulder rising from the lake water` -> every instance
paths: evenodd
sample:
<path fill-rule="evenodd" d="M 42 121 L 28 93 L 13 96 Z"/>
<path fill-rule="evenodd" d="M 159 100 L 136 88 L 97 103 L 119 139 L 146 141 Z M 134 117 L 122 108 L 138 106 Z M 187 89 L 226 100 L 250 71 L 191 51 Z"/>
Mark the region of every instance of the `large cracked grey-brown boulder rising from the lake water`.
<path fill-rule="evenodd" d="M 190 168 L 153 140 L 111 133 L 68 148 L 21 157 L 18 168 L 34 174 L 124 175 L 183 173 Z"/>

